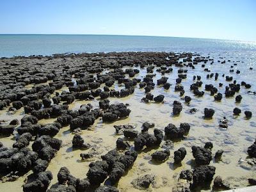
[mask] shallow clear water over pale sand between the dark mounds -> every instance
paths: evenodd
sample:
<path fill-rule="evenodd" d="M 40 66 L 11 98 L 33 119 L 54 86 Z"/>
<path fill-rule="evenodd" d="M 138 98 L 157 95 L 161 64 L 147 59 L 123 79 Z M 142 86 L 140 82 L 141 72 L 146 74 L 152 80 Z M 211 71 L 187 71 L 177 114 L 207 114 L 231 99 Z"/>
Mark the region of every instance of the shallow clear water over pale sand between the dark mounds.
<path fill-rule="evenodd" d="M 247 53 L 246 53 L 247 54 Z M 208 54 L 205 54 L 208 56 Z M 215 102 L 214 98 L 210 96 L 209 92 L 205 92 L 204 97 L 195 97 L 193 92 L 189 91 L 189 86 L 193 82 L 193 76 L 200 74 L 202 76 L 201 81 L 204 82 L 200 90 L 204 90 L 205 84 L 213 84 L 218 87 L 219 83 L 223 83 L 222 88 L 218 88 L 219 92 L 225 92 L 225 86 L 228 85 L 228 82 L 225 81 L 225 77 L 221 77 L 222 74 L 226 76 L 233 76 L 237 80 L 237 83 L 241 81 L 246 81 L 246 83 L 252 84 L 250 90 L 255 91 L 255 76 L 256 71 L 248 70 L 249 67 L 255 67 L 255 54 L 251 52 L 250 55 L 244 54 L 229 54 L 228 52 L 212 52 L 210 54 L 211 58 L 214 59 L 214 64 L 210 65 L 207 63 L 205 68 L 209 68 L 211 72 L 218 72 L 220 76 L 218 81 L 214 81 L 214 77 L 207 79 L 207 72 L 204 72 L 204 68 L 201 67 L 201 64 L 195 65 L 195 70 L 188 68 L 187 79 L 182 79 L 182 85 L 186 93 L 192 98 L 190 104 L 184 104 L 184 100 L 180 99 L 179 92 L 174 92 L 175 79 L 177 78 L 177 70 L 179 68 L 173 66 L 173 72 L 170 74 L 165 74 L 164 76 L 169 77 L 168 83 L 172 83 L 170 90 L 164 90 L 162 87 L 156 85 L 155 89 L 152 90 L 153 95 L 163 94 L 164 103 L 156 104 L 154 102 L 145 104 L 141 102 L 141 98 L 145 96 L 144 89 L 140 89 L 138 86 L 135 89 L 135 92 L 129 97 L 124 98 L 109 98 L 110 103 L 115 102 L 124 102 L 129 104 L 128 108 L 131 109 L 131 114 L 128 118 L 118 120 L 112 124 L 103 124 L 102 120 L 98 119 L 95 121 L 95 124 L 90 127 L 88 130 L 83 130 L 83 138 L 87 143 L 90 143 L 93 148 L 95 148 L 95 157 L 88 161 L 81 161 L 79 154 L 81 152 L 90 152 L 93 148 L 88 150 L 73 150 L 72 149 L 72 138 L 74 134 L 70 133 L 69 127 L 63 127 L 60 129 L 60 132 L 55 136 L 63 141 L 63 146 L 58 151 L 56 157 L 51 160 L 47 170 L 50 170 L 53 175 L 51 180 L 51 185 L 54 185 L 58 182 L 57 173 L 60 170 L 61 166 L 67 166 L 70 170 L 70 173 L 77 178 L 85 178 L 88 171 L 88 164 L 91 161 L 96 161 L 100 159 L 102 154 L 106 154 L 109 150 L 115 148 L 116 140 L 119 136 L 115 134 L 115 128 L 113 125 L 121 124 L 136 124 L 136 130 L 141 131 L 141 125 L 143 122 L 154 122 L 156 124 L 155 128 L 164 130 L 166 125 L 172 123 L 179 126 L 182 122 L 188 122 L 191 125 L 189 134 L 185 140 L 178 141 L 174 143 L 174 147 L 170 150 L 171 156 L 168 160 L 162 164 L 155 164 L 150 161 L 150 154 L 152 154 L 156 149 L 150 151 L 143 151 L 139 154 L 137 160 L 134 162 L 131 170 L 124 175 L 118 182 L 118 189 L 120 191 L 140 191 L 134 189 L 131 181 L 136 179 L 138 176 L 145 174 L 156 175 L 156 183 L 152 184 L 148 191 L 172 191 L 172 188 L 178 182 L 177 175 L 180 171 L 194 168 L 194 161 L 191 152 L 191 147 L 193 145 L 204 147 L 204 143 L 211 141 L 213 143 L 212 155 L 219 149 L 223 149 L 224 153 L 222 156 L 222 161 L 214 162 L 211 161 L 210 165 L 216 167 L 216 174 L 221 175 L 223 179 L 230 181 L 233 187 L 244 187 L 248 183 L 246 179 L 255 177 L 255 170 L 253 169 L 244 169 L 239 164 L 239 159 L 246 159 L 247 157 L 247 148 L 252 145 L 256 136 L 256 97 L 255 95 L 250 95 L 247 93 L 248 89 L 241 86 L 241 90 L 238 94 L 243 96 L 241 103 L 237 104 L 235 102 L 235 97 L 238 95 L 236 93 L 235 97 L 225 98 L 221 102 Z M 220 59 L 220 56 L 223 59 Z M 228 62 L 227 60 L 231 60 Z M 225 64 L 218 63 L 217 61 L 226 60 Z M 238 62 L 239 61 L 239 62 Z M 38 62 L 38 61 L 37 61 Z M 41 62 L 49 62 L 42 60 Z M 77 62 L 77 61 L 61 61 L 61 62 Z M 230 73 L 230 65 L 237 63 L 237 66 L 234 66 L 234 73 Z M 136 78 L 143 78 L 147 74 L 146 69 L 140 69 L 140 74 L 137 74 Z M 236 69 L 241 70 L 241 74 L 236 74 Z M 156 72 L 154 69 L 156 77 L 154 77 L 154 83 L 157 79 L 161 78 L 162 75 Z M 106 72 L 106 71 L 104 71 Z M 127 76 L 128 77 L 128 76 Z M 114 85 L 117 90 L 124 88 L 124 86 Z M 29 88 L 29 86 L 28 86 Z M 67 87 L 64 87 L 62 90 L 68 90 Z M 172 103 L 173 100 L 179 100 L 182 102 L 182 112 L 179 116 L 172 115 Z M 95 99 L 92 101 L 81 101 L 76 100 L 76 102 L 69 105 L 69 109 L 79 109 L 81 104 L 91 103 L 94 107 L 99 106 L 99 100 Z M 242 110 L 241 115 L 234 116 L 232 111 L 235 107 L 238 107 Z M 198 111 L 195 114 L 190 114 L 188 111 L 191 108 L 196 108 Z M 204 120 L 204 108 L 213 108 L 215 110 L 214 116 L 211 120 Z M 252 118 L 249 120 L 244 118 L 244 111 L 252 111 Z M 13 118 L 22 118 L 24 115 L 23 109 L 19 109 L 14 115 L 6 115 L 6 111 L 0 112 L 0 119 L 12 120 Z M 225 116 L 229 120 L 228 129 L 220 129 L 219 120 Z M 49 120 L 40 120 L 40 124 L 47 124 L 54 122 L 54 118 Z M 150 133 L 153 132 L 153 129 L 149 130 Z M 4 146 L 12 147 L 12 144 L 15 142 L 14 137 L 10 136 L 7 138 L 0 138 L 0 141 L 3 142 Z M 32 142 L 31 142 L 32 143 Z M 162 142 L 161 144 L 163 144 Z M 133 141 L 130 142 L 133 145 Z M 187 150 L 187 155 L 182 161 L 182 166 L 176 167 L 173 164 L 173 152 L 180 147 L 185 147 Z M 158 148 L 161 150 L 161 147 Z M 0 184 L 0 191 L 22 191 L 22 184 L 24 184 L 24 179 L 31 174 L 32 172 L 26 173 L 23 177 L 20 177 L 15 182 L 4 182 Z M 204 189 L 202 191 L 211 191 L 211 189 Z"/>

